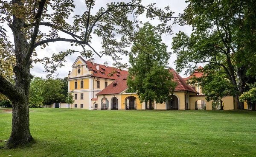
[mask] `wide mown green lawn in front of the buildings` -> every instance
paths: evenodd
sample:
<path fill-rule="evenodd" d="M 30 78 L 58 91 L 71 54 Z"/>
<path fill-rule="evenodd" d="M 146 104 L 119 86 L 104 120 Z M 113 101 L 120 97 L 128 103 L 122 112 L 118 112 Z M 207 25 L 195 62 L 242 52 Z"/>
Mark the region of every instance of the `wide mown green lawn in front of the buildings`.
<path fill-rule="evenodd" d="M 254 157 L 256 112 L 30 109 L 35 143 L 7 157 Z M 12 113 L 0 112 L 0 140 Z M 3 148 L 4 142 L 0 142 Z"/>

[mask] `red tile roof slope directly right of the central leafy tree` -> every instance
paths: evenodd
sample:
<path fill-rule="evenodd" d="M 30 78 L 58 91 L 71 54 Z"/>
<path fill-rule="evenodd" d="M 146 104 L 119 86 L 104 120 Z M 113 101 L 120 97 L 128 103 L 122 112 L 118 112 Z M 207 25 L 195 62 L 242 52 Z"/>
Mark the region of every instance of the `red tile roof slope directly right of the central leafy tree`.
<path fill-rule="evenodd" d="M 173 81 L 177 82 L 177 87 L 175 88 L 175 91 L 189 91 L 198 93 L 196 90 L 194 90 L 191 86 L 189 86 L 186 81 L 183 80 L 183 78 L 180 77 L 180 75 L 174 70 L 170 69 L 170 72 L 173 73 Z"/>

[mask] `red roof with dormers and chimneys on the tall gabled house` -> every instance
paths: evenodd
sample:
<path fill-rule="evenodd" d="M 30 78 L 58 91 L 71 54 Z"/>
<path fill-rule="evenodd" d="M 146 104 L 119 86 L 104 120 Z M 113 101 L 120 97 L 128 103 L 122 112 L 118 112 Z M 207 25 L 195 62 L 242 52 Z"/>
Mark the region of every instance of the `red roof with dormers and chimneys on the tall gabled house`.
<path fill-rule="evenodd" d="M 128 71 L 126 71 L 126 70 L 119 70 L 119 69 L 117 69 L 117 68 L 115 68 L 115 67 L 106 67 L 105 65 L 102 65 L 102 64 L 99 64 L 99 70 L 97 70 L 96 69 L 96 65 L 98 64 L 98 63 L 94 63 L 94 65 L 93 65 L 93 63 L 92 62 L 89 62 L 89 61 L 85 61 L 81 56 L 79 56 L 79 58 L 81 59 L 81 60 L 83 60 L 85 63 L 87 63 L 87 67 L 88 67 L 88 69 L 90 70 L 90 67 L 92 67 L 92 70 L 93 70 L 93 76 L 95 76 L 95 77 L 100 77 L 100 78 L 108 78 L 108 79 L 113 79 L 113 80 L 115 80 L 115 79 L 117 79 L 118 78 L 118 76 L 120 76 L 120 75 L 125 75 L 125 74 L 128 74 Z M 105 71 L 104 71 L 105 70 Z M 96 73 L 94 72 L 94 71 L 96 71 Z M 105 75 L 103 75 L 101 72 L 103 72 L 103 73 L 105 73 Z M 115 73 L 115 74 L 113 74 L 113 76 L 109 76 L 109 73 L 111 73 L 111 72 L 113 72 L 113 71 L 117 71 L 117 72 L 119 72 L 119 73 Z"/>

